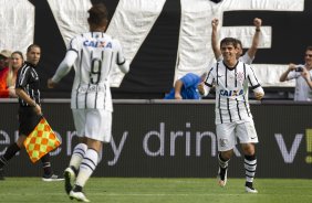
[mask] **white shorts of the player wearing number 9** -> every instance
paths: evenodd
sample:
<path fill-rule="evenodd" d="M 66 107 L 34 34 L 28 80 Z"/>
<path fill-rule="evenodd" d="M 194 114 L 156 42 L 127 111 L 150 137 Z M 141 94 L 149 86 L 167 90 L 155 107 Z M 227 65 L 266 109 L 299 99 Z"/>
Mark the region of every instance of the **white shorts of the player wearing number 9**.
<path fill-rule="evenodd" d="M 104 109 L 72 109 L 79 137 L 110 142 L 112 139 L 112 111 Z"/>

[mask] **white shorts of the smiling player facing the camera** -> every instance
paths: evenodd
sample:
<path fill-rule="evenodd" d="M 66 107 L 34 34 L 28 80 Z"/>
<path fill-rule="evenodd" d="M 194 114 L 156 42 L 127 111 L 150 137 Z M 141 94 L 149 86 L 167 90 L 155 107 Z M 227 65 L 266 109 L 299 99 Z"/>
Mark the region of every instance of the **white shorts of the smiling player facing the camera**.
<path fill-rule="evenodd" d="M 217 125 L 218 151 L 228 151 L 240 143 L 258 143 L 258 136 L 253 121 L 233 121 Z"/>

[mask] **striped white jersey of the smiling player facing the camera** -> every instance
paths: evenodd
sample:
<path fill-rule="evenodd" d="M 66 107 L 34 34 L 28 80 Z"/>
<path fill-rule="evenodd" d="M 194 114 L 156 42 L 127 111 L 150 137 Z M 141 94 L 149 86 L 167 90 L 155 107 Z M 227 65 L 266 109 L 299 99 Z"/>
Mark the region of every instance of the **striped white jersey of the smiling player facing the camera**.
<path fill-rule="evenodd" d="M 252 120 L 243 88 L 248 82 L 253 92 L 263 93 L 253 70 L 241 61 L 229 68 L 223 61 L 217 62 L 205 81 L 205 95 L 216 87 L 216 124 Z"/>

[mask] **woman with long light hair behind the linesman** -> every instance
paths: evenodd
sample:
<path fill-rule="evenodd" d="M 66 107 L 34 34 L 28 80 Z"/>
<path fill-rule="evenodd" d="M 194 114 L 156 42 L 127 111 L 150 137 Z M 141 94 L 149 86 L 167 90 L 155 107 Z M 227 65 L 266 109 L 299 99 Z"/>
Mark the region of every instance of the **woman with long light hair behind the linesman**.
<path fill-rule="evenodd" d="M 7 87 L 9 89 L 10 97 L 18 97 L 15 94 L 15 81 L 18 71 L 23 66 L 24 57 L 23 54 L 19 51 L 15 51 L 11 54 L 9 73 L 7 77 Z"/>

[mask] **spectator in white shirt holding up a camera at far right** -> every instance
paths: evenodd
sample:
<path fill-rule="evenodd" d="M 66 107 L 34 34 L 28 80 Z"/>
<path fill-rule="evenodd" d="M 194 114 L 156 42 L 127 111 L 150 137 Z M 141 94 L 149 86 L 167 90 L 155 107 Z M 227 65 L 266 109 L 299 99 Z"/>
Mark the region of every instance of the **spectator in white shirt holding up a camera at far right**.
<path fill-rule="evenodd" d="M 312 101 L 312 46 L 305 50 L 304 65 L 290 63 L 280 82 L 295 79 L 294 100 Z"/>

